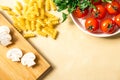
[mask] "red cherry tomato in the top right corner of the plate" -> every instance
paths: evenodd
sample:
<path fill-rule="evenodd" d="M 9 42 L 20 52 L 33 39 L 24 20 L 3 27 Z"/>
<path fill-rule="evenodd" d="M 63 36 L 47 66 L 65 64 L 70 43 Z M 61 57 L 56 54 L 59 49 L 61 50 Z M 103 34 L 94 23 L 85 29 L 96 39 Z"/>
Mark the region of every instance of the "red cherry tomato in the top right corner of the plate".
<path fill-rule="evenodd" d="M 106 9 L 109 14 L 116 15 L 120 11 L 120 4 L 116 1 L 113 1 L 111 3 L 106 4 Z"/>

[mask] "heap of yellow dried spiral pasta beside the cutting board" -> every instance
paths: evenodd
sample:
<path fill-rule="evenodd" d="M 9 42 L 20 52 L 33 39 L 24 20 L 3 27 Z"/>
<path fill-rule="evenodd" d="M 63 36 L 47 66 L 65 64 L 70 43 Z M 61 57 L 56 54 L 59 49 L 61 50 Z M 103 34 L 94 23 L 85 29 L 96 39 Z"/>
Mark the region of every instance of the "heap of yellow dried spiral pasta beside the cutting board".
<path fill-rule="evenodd" d="M 14 27 L 25 38 L 35 37 L 37 33 L 56 39 L 58 31 L 55 26 L 59 24 L 59 18 L 49 13 L 57 9 L 53 0 L 24 0 L 23 4 L 17 1 L 14 9 L 0 7 L 11 15 Z"/>

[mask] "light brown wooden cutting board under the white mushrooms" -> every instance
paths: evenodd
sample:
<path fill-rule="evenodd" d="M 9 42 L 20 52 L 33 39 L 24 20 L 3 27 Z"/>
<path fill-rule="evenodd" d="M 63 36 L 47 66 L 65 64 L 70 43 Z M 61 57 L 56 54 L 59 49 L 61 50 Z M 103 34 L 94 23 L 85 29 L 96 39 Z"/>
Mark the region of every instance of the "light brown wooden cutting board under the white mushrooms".
<path fill-rule="evenodd" d="M 4 47 L 0 45 L 0 80 L 36 80 L 48 69 L 50 64 L 38 53 L 23 36 L 0 13 L 0 25 L 6 25 L 11 30 L 13 44 Z M 20 62 L 12 62 L 6 57 L 6 52 L 11 48 L 20 48 L 23 54 L 33 52 L 36 55 L 34 67 L 23 66 Z"/>

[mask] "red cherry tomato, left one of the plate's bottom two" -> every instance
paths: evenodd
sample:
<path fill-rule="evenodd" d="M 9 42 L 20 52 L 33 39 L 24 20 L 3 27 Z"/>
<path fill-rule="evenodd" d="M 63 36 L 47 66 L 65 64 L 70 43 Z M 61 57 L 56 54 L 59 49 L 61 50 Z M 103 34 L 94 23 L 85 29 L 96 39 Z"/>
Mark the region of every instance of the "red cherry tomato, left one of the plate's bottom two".
<path fill-rule="evenodd" d="M 99 23 L 97 21 L 97 19 L 95 18 L 87 18 L 85 21 L 85 28 L 89 31 L 89 32 L 96 32 L 99 28 Z"/>

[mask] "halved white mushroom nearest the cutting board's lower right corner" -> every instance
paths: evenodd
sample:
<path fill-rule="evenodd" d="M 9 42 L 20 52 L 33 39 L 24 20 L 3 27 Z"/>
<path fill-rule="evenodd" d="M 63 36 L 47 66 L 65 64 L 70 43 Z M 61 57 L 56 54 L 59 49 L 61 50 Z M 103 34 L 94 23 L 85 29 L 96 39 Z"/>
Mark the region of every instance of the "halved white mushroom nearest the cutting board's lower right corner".
<path fill-rule="evenodd" d="M 26 53 L 22 58 L 21 58 L 21 63 L 22 65 L 27 65 L 28 67 L 31 67 L 35 65 L 35 55 L 32 52 Z"/>

